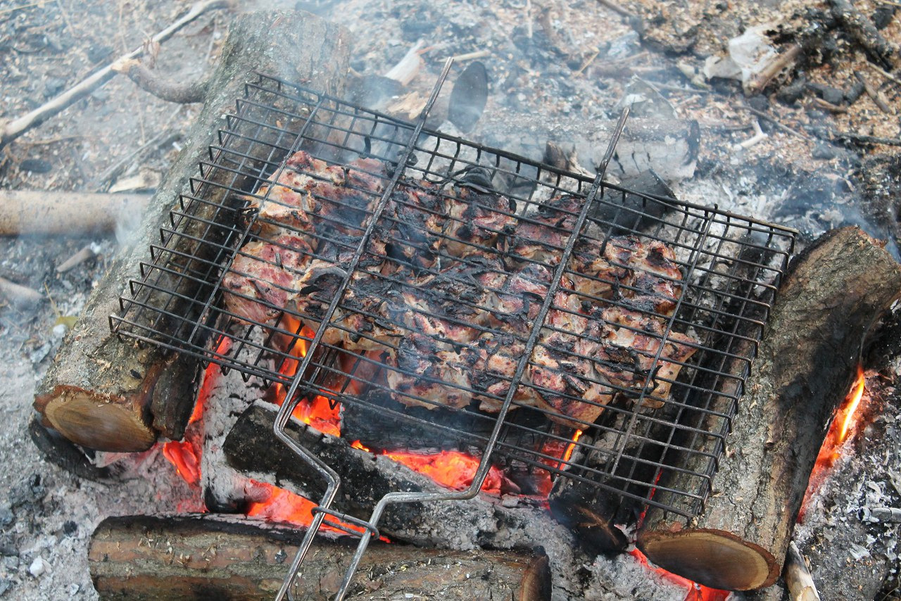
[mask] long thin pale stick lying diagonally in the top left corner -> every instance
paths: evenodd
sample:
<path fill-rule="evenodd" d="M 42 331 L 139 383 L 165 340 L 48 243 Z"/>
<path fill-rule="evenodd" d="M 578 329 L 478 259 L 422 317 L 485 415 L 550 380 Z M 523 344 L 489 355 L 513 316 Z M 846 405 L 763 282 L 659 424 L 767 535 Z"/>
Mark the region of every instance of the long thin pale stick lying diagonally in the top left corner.
<path fill-rule="evenodd" d="M 189 10 L 175 23 L 172 23 L 166 29 L 154 35 L 151 38 L 151 41 L 166 41 L 170 37 L 172 37 L 173 33 L 177 32 L 179 29 L 187 25 L 187 23 L 191 23 L 206 11 L 225 8 L 226 6 L 228 6 L 228 2 L 226 0 L 205 0 L 204 2 L 198 2 L 195 5 L 191 6 L 191 10 Z M 141 46 L 141 48 L 132 50 L 123 57 L 116 59 L 116 61 L 123 59 L 134 59 L 141 56 L 143 51 L 143 46 Z M 50 100 L 50 102 L 44 103 L 43 105 L 34 109 L 31 113 L 25 114 L 18 119 L 10 121 L 9 123 L 5 123 L 2 131 L 0 131 L 0 148 L 3 148 L 11 141 L 14 141 L 24 132 L 32 129 L 32 127 L 36 127 L 41 123 L 44 123 L 54 114 L 58 114 L 68 106 L 73 105 L 81 98 L 84 98 L 85 96 L 96 90 L 96 88 L 103 86 L 107 81 L 115 77 L 113 64 L 114 63 L 111 63 L 106 67 L 96 71 L 89 77 L 82 79 L 81 82 L 76 86 L 68 88 L 68 90 L 53 98 L 52 100 Z"/>

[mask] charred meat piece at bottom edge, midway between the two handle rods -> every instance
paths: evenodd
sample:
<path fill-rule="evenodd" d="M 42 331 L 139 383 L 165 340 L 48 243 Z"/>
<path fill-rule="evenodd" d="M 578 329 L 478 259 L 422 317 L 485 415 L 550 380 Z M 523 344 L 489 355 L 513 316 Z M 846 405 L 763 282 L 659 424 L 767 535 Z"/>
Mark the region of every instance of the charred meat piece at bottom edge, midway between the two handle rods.
<path fill-rule="evenodd" d="M 467 355 L 429 336 L 411 333 L 400 341 L 386 378 L 396 401 L 407 406 L 460 409 L 472 400 Z"/>

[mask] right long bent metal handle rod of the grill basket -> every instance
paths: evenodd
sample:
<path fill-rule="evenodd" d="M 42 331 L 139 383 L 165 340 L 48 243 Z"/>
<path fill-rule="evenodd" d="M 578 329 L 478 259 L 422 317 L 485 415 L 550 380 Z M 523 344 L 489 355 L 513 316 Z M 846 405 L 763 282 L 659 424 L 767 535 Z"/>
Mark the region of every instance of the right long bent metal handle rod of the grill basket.
<path fill-rule="evenodd" d="M 578 239 L 579 232 L 582 231 L 582 227 L 587 220 L 588 211 L 595 201 L 598 190 L 600 190 L 601 188 L 601 182 L 604 179 L 607 165 L 609 164 L 610 159 L 613 158 L 614 150 L 616 148 L 616 142 L 619 141 L 620 134 L 623 132 L 623 127 L 625 127 L 625 122 L 628 117 L 629 108 L 626 107 L 623 109 L 623 113 L 620 114 L 619 121 L 617 121 L 616 123 L 613 137 L 609 145 L 607 146 L 604 160 L 598 166 L 597 174 L 594 182 L 591 185 L 591 189 L 588 192 L 585 205 L 582 206 L 582 210 L 578 214 L 576 225 L 575 227 L 573 227 L 573 232 L 570 234 L 567 245 L 563 250 L 562 256 L 560 257 L 560 264 L 557 266 L 557 269 L 554 273 L 554 278 L 551 281 L 551 287 L 548 290 L 548 295 L 545 296 L 544 302 L 542 303 L 542 308 L 539 311 L 538 315 L 535 317 L 535 321 L 532 324 L 532 332 L 530 332 L 529 339 L 528 341 L 526 341 L 525 351 L 523 351 L 523 355 L 522 357 L 520 357 L 520 360 L 516 365 L 514 377 L 511 380 L 510 387 L 507 390 L 507 394 L 504 398 L 504 404 L 501 405 L 501 409 L 497 414 L 494 430 L 492 430 L 491 436 L 488 438 L 485 452 L 482 454 L 482 460 L 478 464 L 478 469 L 476 470 L 476 474 L 472 478 L 472 483 L 469 485 L 469 488 L 462 491 L 448 493 L 394 492 L 388 493 L 386 496 L 383 496 L 373 509 L 372 514 L 369 517 L 369 524 L 366 527 L 366 530 L 360 536 L 359 543 L 357 544 L 357 551 L 354 553 L 353 557 L 350 560 L 350 565 L 348 566 L 348 569 L 344 574 L 344 579 L 341 581 L 341 587 L 338 589 L 338 593 L 333 597 L 335 601 L 341 601 L 341 599 L 343 599 L 347 594 L 347 590 L 350 587 L 350 580 L 353 578 L 354 574 L 357 571 L 357 568 L 359 567 L 359 561 L 362 560 L 363 553 L 366 552 L 366 548 L 367 546 L 369 546 L 369 541 L 371 540 L 373 533 L 378 534 L 376 525 L 378 524 L 378 520 L 381 518 L 381 515 L 385 511 L 385 508 L 388 504 L 416 502 L 428 503 L 434 501 L 463 501 L 471 499 L 478 495 L 478 491 L 479 489 L 481 489 L 482 483 L 487 477 L 488 469 L 491 468 L 491 455 L 495 449 L 496 442 L 500 437 L 500 431 L 504 426 L 506 414 L 510 408 L 511 402 L 513 401 L 514 394 L 516 393 L 516 388 L 523 378 L 523 372 L 525 371 L 525 368 L 528 365 L 530 358 L 532 357 L 532 349 L 534 349 L 535 343 L 536 341 L 538 341 L 538 335 L 542 330 L 544 319 L 547 316 L 548 311 L 551 309 L 553 298 L 556 295 L 557 290 L 560 288 L 560 280 L 563 278 L 564 271 L 567 269 L 569 256 L 572 254 L 572 250 L 576 245 L 576 240 Z"/>

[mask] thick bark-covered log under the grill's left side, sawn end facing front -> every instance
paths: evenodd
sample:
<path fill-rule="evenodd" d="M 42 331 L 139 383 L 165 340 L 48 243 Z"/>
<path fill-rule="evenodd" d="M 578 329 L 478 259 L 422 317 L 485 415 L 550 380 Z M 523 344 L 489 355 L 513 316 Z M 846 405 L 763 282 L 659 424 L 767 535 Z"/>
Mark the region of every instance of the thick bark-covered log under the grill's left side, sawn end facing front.
<path fill-rule="evenodd" d="M 35 407 L 47 425 L 72 442 L 101 451 L 142 451 L 159 434 L 181 438 L 196 396 L 196 360 L 120 340 L 109 332 L 108 316 L 119 311 L 118 296 L 129 278 L 138 276 L 138 265 L 150 262 L 150 242 L 159 240 L 170 208 L 187 189 L 187 179 L 196 174 L 198 159 L 218 140 L 222 115 L 232 110 L 252 72 L 308 81 L 340 94 L 347 59 L 343 30 L 312 14 L 266 11 L 235 18 L 185 149 L 150 201 L 134 241 L 119 252 L 91 294 L 39 387 Z M 214 205 L 200 211 L 209 213 L 200 214 L 202 219 L 223 218 Z M 201 223 L 196 222 L 198 230 Z M 188 255 L 196 250 L 189 247 L 194 244 L 190 240 L 185 236 L 179 242 L 184 243 L 179 250 Z M 185 314 L 187 307 L 169 310 Z"/>

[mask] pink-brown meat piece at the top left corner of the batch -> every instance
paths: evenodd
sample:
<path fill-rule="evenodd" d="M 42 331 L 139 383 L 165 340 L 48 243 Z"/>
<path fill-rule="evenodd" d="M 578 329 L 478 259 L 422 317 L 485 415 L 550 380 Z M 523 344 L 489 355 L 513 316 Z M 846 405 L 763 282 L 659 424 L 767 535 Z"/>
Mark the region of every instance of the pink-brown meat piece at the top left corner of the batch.
<path fill-rule="evenodd" d="M 384 188 L 384 178 L 384 165 L 376 159 L 330 165 L 299 150 L 275 182 L 250 196 L 248 209 L 258 213 L 256 223 L 264 237 L 278 235 L 284 228 L 315 238 L 335 232 L 359 237 Z"/>

